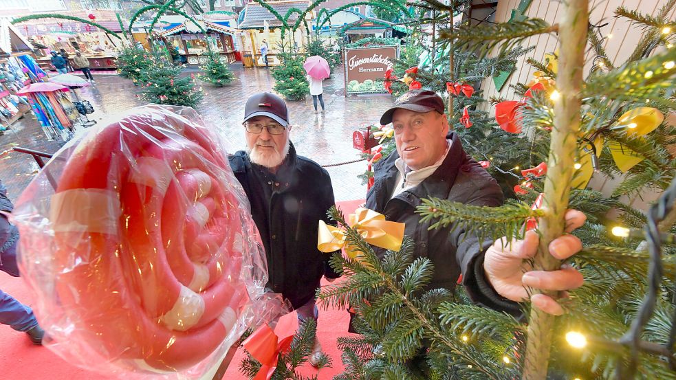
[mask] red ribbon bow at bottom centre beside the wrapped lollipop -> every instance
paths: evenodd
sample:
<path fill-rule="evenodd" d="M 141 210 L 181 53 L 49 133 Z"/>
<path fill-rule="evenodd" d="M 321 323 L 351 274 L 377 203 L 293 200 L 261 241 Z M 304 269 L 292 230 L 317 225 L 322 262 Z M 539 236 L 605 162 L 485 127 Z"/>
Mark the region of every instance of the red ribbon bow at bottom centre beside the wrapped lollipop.
<path fill-rule="evenodd" d="M 276 335 L 270 326 L 263 324 L 242 343 L 251 357 L 261 364 L 261 369 L 253 380 L 270 380 L 277 368 L 279 354 L 286 353 L 291 348 L 294 339 L 294 319 L 281 318 L 275 330 L 281 333 L 281 337 Z"/>

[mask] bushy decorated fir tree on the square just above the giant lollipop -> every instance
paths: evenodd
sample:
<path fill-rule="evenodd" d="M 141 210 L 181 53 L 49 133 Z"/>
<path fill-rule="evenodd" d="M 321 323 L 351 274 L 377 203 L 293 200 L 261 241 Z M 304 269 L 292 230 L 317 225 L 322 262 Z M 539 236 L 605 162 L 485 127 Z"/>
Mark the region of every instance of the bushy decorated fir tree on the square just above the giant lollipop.
<path fill-rule="evenodd" d="M 203 94 L 195 89 L 193 78 L 180 76 L 181 71 L 166 51 L 153 53 L 152 65 L 142 71 L 143 98 L 157 104 L 196 107 Z"/>

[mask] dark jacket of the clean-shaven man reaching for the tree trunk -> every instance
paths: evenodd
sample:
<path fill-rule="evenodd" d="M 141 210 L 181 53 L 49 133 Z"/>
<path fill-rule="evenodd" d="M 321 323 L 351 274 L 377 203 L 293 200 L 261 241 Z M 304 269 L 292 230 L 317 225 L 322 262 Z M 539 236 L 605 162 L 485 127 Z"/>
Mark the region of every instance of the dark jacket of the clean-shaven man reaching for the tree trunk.
<path fill-rule="evenodd" d="M 504 201 L 497 181 L 465 153 L 455 132 L 450 132 L 447 138 L 453 143 L 441 166 L 418 186 L 397 194 L 393 199 L 389 197 L 397 185 L 399 170 L 395 161 L 399 154 L 394 151 L 375 164 L 375 181 L 367 194 L 366 207 L 384 214 L 389 221 L 406 223 L 404 234 L 416 243 L 415 257 L 429 258 L 434 264 L 430 289 L 453 290 L 462 273 L 463 284 L 472 300 L 493 309 L 516 312 L 518 309 L 514 302 L 498 295 L 483 274 L 483 254 L 492 241 L 480 244 L 477 236 L 468 235 L 453 225 L 428 230 L 431 223 L 419 223 L 422 217 L 415 213 L 422 199 L 432 197 L 477 206 L 499 206 Z M 381 256 L 384 254 L 382 249 L 377 252 Z"/>

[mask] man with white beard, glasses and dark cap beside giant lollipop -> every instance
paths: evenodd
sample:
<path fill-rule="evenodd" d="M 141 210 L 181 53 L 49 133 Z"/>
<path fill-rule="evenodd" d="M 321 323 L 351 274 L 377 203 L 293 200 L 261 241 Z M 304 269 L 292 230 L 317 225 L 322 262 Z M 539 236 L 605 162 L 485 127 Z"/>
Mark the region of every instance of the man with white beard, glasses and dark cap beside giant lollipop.
<path fill-rule="evenodd" d="M 286 103 L 272 93 L 251 96 L 244 110 L 247 149 L 229 157 L 251 203 L 268 259 L 267 287 L 292 304 L 298 320 L 317 320 L 315 293 L 322 276 L 339 274 L 317 249 L 318 221 L 329 223 L 334 205 L 329 173 L 316 162 L 296 155 L 290 142 Z M 321 346 L 315 339 L 309 362 L 316 366 Z"/>

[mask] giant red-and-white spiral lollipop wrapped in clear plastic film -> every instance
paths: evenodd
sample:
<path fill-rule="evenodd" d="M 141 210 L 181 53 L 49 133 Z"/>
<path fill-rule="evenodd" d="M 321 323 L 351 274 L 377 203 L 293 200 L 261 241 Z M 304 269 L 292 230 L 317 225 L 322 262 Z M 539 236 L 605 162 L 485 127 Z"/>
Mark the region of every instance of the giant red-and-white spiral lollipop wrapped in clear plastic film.
<path fill-rule="evenodd" d="M 199 378 L 279 315 L 226 144 L 149 105 L 69 142 L 21 194 L 21 271 L 45 345 L 107 374 Z M 134 377 L 137 378 L 137 377 Z"/>

